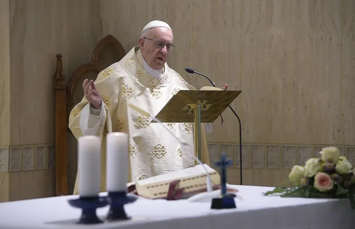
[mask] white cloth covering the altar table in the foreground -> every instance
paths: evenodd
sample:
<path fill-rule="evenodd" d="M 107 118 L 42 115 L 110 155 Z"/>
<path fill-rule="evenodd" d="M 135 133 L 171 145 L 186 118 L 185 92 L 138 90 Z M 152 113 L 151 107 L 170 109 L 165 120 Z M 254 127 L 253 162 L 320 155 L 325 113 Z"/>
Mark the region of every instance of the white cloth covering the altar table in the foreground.
<path fill-rule="evenodd" d="M 125 229 L 347 229 L 355 228 L 355 210 L 348 200 L 306 199 L 263 196 L 271 187 L 233 186 L 243 201 L 237 209 L 211 210 L 208 203 L 151 201 L 138 199 L 126 205 L 133 219 L 96 225 L 75 224 L 81 210 L 67 200 L 78 196 L 59 196 L 0 204 L 0 228 L 125 228 Z M 102 193 L 105 195 L 106 193 Z M 105 216 L 108 207 L 97 210 Z"/>

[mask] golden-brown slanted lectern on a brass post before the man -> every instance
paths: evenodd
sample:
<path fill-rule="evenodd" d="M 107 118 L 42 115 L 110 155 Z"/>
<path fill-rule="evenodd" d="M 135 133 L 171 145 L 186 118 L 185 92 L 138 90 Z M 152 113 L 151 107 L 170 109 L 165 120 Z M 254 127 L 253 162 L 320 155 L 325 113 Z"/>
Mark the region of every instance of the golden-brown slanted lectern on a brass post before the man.
<path fill-rule="evenodd" d="M 194 123 L 194 155 L 201 159 L 201 123 L 213 123 L 241 92 L 181 90 L 155 118 L 162 123 Z"/>

